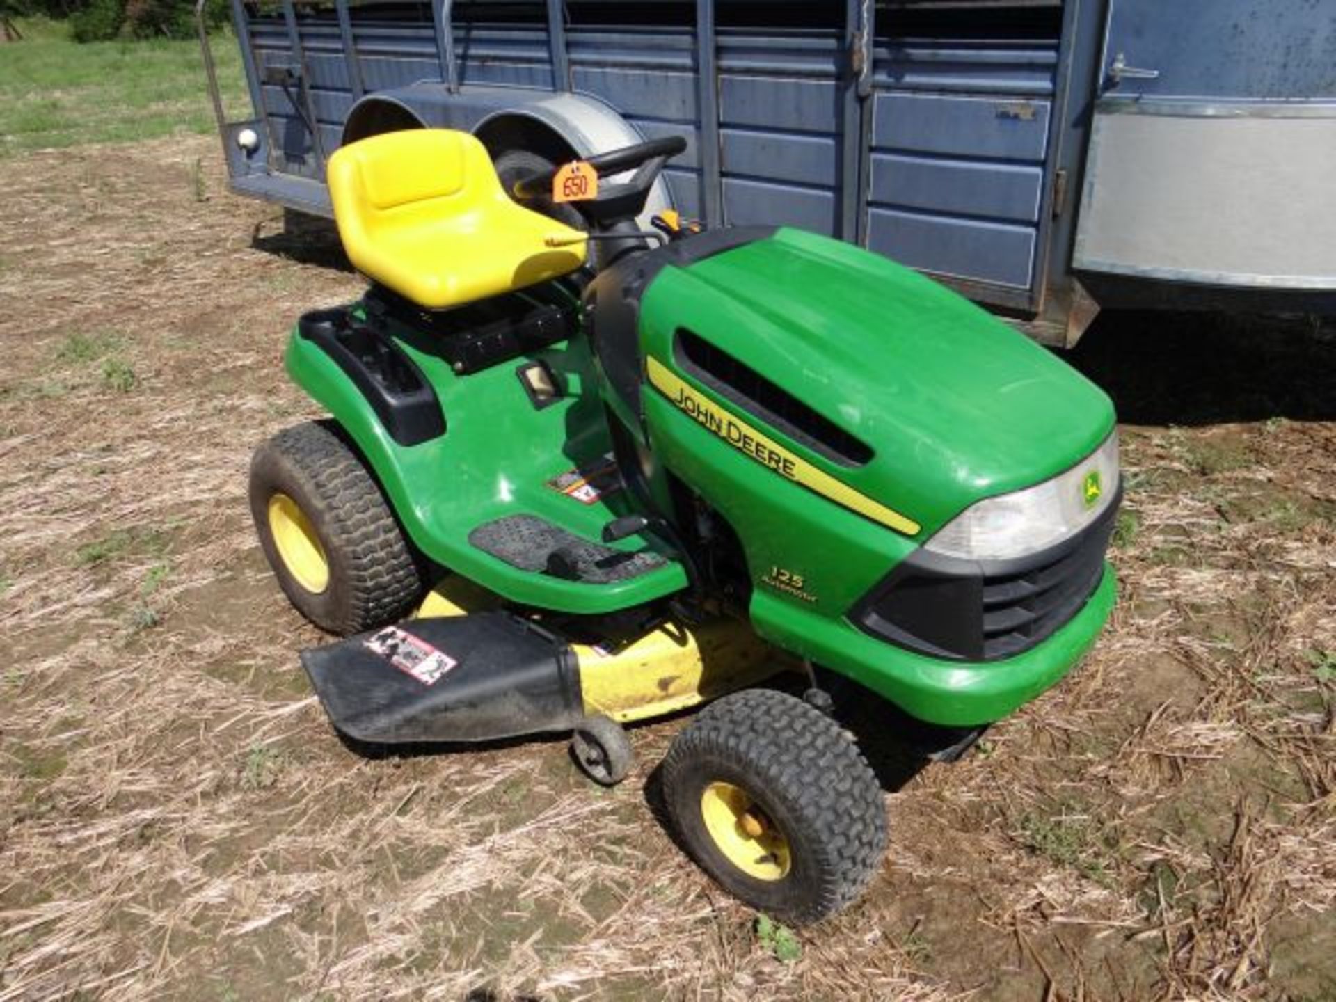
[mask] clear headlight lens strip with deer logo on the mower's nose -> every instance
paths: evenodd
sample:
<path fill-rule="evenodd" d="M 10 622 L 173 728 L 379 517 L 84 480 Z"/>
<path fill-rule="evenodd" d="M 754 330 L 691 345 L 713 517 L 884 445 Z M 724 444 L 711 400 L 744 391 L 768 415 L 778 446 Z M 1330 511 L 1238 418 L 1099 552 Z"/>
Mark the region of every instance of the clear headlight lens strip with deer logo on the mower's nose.
<path fill-rule="evenodd" d="M 965 560 L 1010 560 L 1054 546 L 1100 517 L 1118 493 L 1118 433 L 1066 473 L 970 505 L 925 549 Z"/>

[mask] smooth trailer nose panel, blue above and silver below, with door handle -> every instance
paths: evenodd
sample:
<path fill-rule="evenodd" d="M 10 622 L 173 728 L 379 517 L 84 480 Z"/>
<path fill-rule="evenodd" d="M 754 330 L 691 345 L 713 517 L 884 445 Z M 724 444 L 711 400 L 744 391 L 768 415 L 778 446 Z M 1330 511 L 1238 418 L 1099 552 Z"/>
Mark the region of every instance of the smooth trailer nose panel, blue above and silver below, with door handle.
<path fill-rule="evenodd" d="M 1329 3 L 1110 0 L 1073 265 L 1336 289 L 1333 52 Z"/>

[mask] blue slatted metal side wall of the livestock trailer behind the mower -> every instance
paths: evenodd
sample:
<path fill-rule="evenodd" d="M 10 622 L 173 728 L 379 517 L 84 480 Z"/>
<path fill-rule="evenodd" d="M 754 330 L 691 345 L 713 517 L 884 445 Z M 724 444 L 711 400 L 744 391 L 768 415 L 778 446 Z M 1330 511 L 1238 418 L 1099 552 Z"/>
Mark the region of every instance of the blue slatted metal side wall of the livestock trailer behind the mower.
<path fill-rule="evenodd" d="M 407 7 L 341 3 L 295 8 L 313 156 L 337 147 L 362 94 L 442 80 L 450 65 L 466 88 L 569 86 L 647 138 L 688 140 L 664 179 L 691 216 L 862 239 L 985 298 L 1037 302 L 1059 16 L 883 4 L 864 24 L 875 5 L 860 0 L 770 13 L 696 0 L 596 24 L 591 11 L 608 8 L 533 0 L 501 23 L 466 0 L 421 4 L 417 20 Z M 445 8 L 448 31 L 436 24 Z M 261 75 L 291 57 L 282 13 L 253 15 L 246 29 Z M 258 90 L 275 148 L 293 147 L 275 166 L 310 175 L 290 103 Z"/>

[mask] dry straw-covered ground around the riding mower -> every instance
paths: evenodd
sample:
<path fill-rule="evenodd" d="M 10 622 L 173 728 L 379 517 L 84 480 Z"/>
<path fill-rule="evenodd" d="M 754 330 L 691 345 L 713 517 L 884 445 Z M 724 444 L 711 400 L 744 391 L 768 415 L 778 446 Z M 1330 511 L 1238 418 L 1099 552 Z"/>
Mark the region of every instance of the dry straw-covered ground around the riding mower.
<path fill-rule="evenodd" d="M 887 796 L 871 891 L 794 959 L 647 810 L 677 723 L 612 792 L 561 743 L 327 728 L 244 482 L 311 413 L 279 351 L 357 294 L 335 250 L 208 139 L 0 170 L 0 1002 L 1336 998 L 1329 330 L 1101 322 L 1114 623 Z"/>

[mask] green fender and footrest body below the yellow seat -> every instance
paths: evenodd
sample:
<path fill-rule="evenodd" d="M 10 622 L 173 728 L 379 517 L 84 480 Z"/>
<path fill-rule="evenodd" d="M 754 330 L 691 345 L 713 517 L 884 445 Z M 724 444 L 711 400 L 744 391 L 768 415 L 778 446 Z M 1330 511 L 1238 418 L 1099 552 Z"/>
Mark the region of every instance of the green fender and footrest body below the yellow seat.
<path fill-rule="evenodd" d="M 627 514 L 623 493 L 584 504 L 549 486 L 554 477 L 597 465 L 611 450 L 607 420 L 584 338 L 553 345 L 468 375 L 445 359 L 399 346 L 436 387 L 446 432 L 420 445 L 397 444 L 338 365 L 294 330 L 286 365 L 291 378 L 342 425 L 366 457 L 413 542 L 432 560 L 512 601 L 576 613 L 640 605 L 687 587 L 681 565 L 653 537 L 616 544 L 655 549 L 668 562 L 611 584 L 568 581 L 512 566 L 469 542 L 469 533 L 505 516 L 532 514 L 591 541 Z M 536 410 L 517 369 L 544 359 L 566 387 L 558 402 Z"/>

